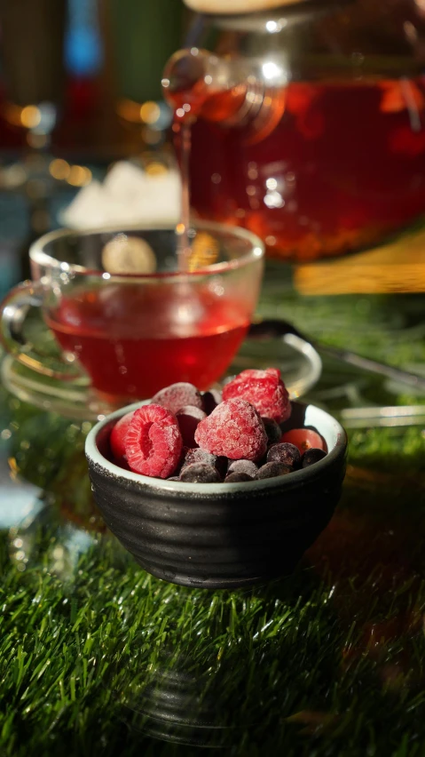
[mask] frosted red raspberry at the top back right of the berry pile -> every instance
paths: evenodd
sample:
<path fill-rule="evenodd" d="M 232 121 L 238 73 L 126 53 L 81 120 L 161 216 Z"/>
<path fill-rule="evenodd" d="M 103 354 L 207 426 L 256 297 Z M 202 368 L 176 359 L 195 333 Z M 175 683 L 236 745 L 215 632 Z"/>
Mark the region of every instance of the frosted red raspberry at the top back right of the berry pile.
<path fill-rule="evenodd" d="M 277 423 L 287 420 L 291 414 L 289 396 L 277 368 L 242 371 L 223 389 L 224 400 L 236 398 L 247 400 L 262 418 L 272 418 Z"/>

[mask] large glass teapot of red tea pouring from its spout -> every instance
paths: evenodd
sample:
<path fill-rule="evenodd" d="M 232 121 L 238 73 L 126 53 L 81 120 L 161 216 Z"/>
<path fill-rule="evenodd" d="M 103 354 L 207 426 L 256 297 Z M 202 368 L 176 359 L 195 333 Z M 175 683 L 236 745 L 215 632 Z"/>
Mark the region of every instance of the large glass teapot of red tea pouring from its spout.
<path fill-rule="evenodd" d="M 425 0 L 187 4 L 162 85 L 194 211 L 300 260 L 424 214 Z"/>

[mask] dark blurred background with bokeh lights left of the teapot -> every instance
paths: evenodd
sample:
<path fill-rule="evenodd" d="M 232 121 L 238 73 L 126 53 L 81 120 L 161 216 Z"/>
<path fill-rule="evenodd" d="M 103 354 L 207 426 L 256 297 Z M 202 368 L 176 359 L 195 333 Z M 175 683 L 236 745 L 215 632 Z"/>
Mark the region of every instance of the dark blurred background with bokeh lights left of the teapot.
<path fill-rule="evenodd" d="M 161 73 L 189 17 L 180 0 L 0 0 L 0 296 L 111 165 L 167 171 Z"/>

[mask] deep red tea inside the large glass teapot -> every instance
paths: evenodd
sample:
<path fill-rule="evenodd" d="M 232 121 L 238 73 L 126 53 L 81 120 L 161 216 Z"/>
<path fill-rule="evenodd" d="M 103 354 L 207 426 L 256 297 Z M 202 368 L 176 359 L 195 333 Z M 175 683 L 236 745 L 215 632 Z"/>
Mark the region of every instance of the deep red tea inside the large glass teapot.
<path fill-rule="evenodd" d="M 174 130 L 193 121 L 194 210 L 247 227 L 279 258 L 381 242 L 425 210 L 424 82 L 294 82 L 239 119 L 240 85 L 169 92 Z"/>

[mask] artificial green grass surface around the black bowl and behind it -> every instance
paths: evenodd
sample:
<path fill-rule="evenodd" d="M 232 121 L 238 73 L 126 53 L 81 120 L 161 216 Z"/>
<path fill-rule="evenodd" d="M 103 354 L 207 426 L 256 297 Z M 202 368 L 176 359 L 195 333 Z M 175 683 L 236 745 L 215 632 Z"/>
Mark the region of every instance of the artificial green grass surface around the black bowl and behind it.
<path fill-rule="evenodd" d="M 350 331 L 393 363 L 425 357 L 418 299 L 303 303 L 270 289 L 262 309 L 334 344 Z M 421 402 L 334 363 L 311 396 L 335 411 L 350 396 Z M 43 488 L 40 513 L 0 539 L 2 757 L 191 757 L 191 742 L 238 757 L 423 757 L 421 426 L 350 432 L 342 502 L 293 576 L 207 592 L 149 577 L 98 533 L 90 424 L 6 394 L 2 411 L 12 470 Z M 91 540 L 78 543 L 82 524 Z"/>

